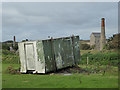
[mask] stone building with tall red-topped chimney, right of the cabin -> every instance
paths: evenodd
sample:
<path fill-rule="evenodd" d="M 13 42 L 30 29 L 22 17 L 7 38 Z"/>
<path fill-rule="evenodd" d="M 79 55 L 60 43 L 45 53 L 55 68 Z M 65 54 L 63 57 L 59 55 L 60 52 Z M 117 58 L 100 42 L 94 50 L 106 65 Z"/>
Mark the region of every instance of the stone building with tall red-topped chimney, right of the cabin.
<path fill-rule="evenodd" d="M 93 32 L 90 35 L 90 46 L 94 47 L 96 50 L 103 50 L 104 45 L 106 44 L 105 36 L 105 19 L 101 19 L 101 33 Z"/>

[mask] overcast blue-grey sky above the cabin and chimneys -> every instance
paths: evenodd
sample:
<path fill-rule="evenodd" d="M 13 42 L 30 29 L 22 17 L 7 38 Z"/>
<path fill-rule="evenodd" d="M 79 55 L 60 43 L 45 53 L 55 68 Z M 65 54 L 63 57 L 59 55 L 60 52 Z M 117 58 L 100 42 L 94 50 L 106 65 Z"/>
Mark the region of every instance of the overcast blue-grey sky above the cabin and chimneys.
<path fill-rule="evenodd" d="M 48 36 L 79 35 L 90 39 L 92 32 L 101 31 L 105 18 L 106 37 L 118 32 L 118 3 L 3 3 L 2 39 L 41 40 Z"/>

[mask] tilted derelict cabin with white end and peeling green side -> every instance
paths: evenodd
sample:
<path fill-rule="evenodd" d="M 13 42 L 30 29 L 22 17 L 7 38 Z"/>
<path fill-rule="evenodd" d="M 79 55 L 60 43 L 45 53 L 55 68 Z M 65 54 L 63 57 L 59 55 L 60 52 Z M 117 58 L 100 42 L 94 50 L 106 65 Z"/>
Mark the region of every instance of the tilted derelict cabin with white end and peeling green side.
<path fill-rule="evenodd" d="M 80 61 L 79 36 L 18 43 L 20 72 L 47 73 Z"/>

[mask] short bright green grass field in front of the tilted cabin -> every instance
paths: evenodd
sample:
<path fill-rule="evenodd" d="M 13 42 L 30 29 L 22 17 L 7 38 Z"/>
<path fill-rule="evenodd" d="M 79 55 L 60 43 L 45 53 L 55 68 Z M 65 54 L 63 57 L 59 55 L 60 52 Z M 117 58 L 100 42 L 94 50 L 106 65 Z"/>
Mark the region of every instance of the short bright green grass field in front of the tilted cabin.
<path fill-rule="evenodd" d="M 72 75 L 35 75 L 35 74 L 9 74 L 6 69 L 13 65 L 15 69 L 18 64 L 2 65 L 2 87 L 3 88 L 118 88 L 118 68 L 111 66 L 103 75 L 94 74 L 72 74 Z M 86 68 L 85 65 L 79 65 Z M 91 67 L 91 66 L 88 66 Z M 105 66 L 101 66 L 105 67 Z"/>

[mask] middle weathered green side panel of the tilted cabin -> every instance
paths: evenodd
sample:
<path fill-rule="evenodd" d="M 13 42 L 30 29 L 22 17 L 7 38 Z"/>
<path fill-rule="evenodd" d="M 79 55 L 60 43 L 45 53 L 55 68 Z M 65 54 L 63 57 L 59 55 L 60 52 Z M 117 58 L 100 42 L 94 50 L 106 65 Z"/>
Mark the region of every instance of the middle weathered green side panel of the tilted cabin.
<path fill-rule="evenodd" d="M 54 40 L 54 50 L 58 69 L 74 64 L 71 38 Z"/>

